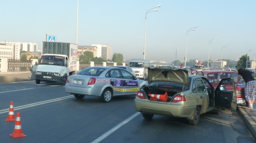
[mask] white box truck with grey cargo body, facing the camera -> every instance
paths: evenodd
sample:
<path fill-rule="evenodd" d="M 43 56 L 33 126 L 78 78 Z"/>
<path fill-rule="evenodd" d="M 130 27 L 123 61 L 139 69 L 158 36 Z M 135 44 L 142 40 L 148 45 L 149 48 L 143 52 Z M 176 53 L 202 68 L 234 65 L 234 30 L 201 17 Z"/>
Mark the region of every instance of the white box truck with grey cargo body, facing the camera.
<path fill-rule="evenodd" d="M 77 45 L 43 42 L 42 57 L 36 65 L 36 84 L 42 80 L 66 84 L 67 77 L 77 70 Z"/>

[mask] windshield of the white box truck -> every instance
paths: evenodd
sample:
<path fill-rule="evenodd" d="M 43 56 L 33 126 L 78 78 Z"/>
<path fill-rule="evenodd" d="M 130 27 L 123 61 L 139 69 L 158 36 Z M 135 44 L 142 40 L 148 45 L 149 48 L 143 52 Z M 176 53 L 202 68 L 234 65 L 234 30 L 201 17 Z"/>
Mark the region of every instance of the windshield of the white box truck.
<path fill-rule="evenodd" d="M 65 57 L 59 57 L 55 55 L 43 55 L 39 64 L 65 66 Z"/>

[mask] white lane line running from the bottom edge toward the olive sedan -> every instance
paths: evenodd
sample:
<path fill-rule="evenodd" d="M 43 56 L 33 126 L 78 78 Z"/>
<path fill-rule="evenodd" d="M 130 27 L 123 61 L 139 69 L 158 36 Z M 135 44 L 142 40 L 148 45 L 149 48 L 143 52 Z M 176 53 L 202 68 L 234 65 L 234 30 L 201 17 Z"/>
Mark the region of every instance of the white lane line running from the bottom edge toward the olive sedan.
<path fill-rule="evenodd" d="M 127 118 L 126 120 L 124 120 L 123 122 L 119 123 L 117 126 L 115 126 L 114 128 L 108 130 L 108 132 L 104 133 L 103 135 L 101 135 L 100 137 L 98 137 L 96 140 L 92 141 L 93 143 L 96 142 L 100 142 L 103 139 L 107 138 L 107 136 L 109 136 L 110 134 L 112 134 L 113 132 L 115 132 L 115 130 L 119 129 L 120 127 L 124 126 L 127 122 L 131 121 L 133 118 L 135 118 L 136 116 L 138 116 L 140 113 L 137 112 L 133 115 L 131 115 L 129 118 Z"/>

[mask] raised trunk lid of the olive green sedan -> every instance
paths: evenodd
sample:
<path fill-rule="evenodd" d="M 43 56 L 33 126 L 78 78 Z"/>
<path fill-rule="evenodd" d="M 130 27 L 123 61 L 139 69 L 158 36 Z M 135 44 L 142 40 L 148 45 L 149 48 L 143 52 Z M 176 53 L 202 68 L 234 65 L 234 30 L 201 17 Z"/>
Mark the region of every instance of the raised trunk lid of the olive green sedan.
<path fill-rule="evenodd" d="M 148 69 L 148 83 L 155 81 L 180 83 L 189 86 L 188 71 L 183 69 Z"/>

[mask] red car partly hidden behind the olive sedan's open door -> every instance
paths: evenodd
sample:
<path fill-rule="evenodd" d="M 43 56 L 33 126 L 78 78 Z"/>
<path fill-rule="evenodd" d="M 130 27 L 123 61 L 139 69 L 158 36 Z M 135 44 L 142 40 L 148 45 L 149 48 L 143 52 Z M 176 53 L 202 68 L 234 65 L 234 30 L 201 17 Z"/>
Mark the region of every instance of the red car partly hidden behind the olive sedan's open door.
<path fill-rule="evenodd" d="M 237 72 L 223 71 L 223 70 L 200 71 L 200 72 L 195 72 L 194 74 L 205 76 L 211 82 L 214 88 L 216 88 L 220 80 L 225 77 L 234 78 L 234 82 L 237 81 L 237 77 L 238 77 Z M 226 90 L 229 90 L 229 89 L 231 90 L 233 86 L 231 82 L 226 82 L 225 87 L 226 87 Z M 242 82 L 237 83 L 236 97 L 237 97 L 237 104 L 241 104 L 241 103 L 247 104 L 245 101 L 245 84 L 243 84 Z"/>

